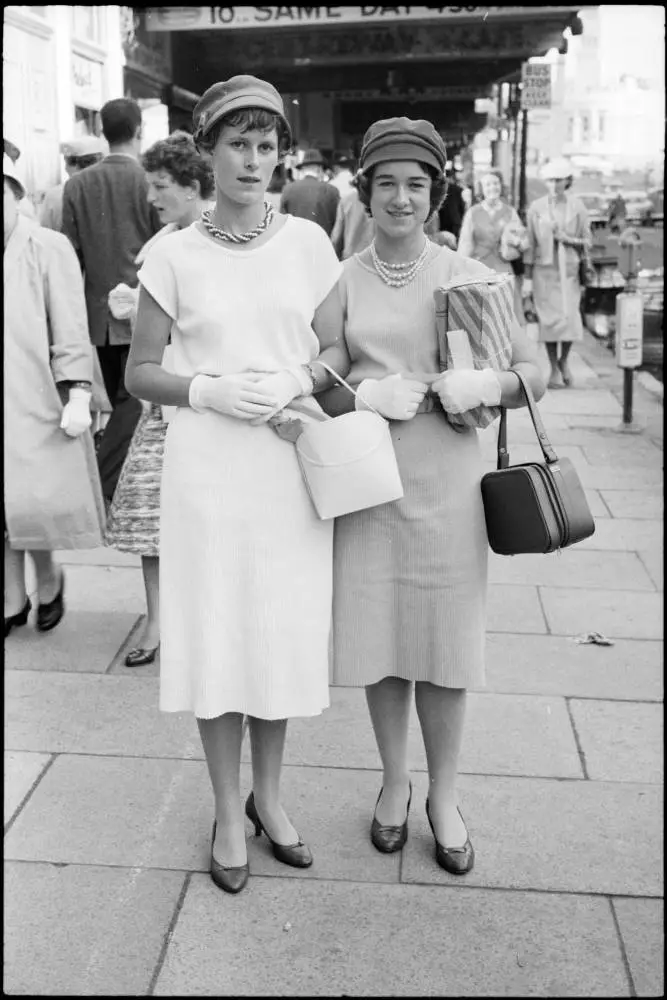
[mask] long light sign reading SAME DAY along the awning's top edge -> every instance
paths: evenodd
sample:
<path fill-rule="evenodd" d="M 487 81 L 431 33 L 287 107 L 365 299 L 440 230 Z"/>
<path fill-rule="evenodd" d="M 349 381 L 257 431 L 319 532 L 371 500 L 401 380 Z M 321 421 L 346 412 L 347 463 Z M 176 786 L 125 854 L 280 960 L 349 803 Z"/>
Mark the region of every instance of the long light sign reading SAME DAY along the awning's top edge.
<path fill-rule="evenodd" d="M 196 31 L 199 29 L 298 28 L 317 25 L 392 24 L 398 21 L 486 21 L 535 17 L 572 12 L 581 7 L 147 7 L 149 31 Z"/>

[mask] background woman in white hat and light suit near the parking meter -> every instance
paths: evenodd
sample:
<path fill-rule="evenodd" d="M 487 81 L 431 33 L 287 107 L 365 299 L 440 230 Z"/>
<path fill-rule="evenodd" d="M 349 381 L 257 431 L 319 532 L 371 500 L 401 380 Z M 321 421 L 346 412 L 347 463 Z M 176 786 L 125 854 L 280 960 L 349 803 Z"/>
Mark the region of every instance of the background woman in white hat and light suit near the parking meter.
<path fill-rule="evenodd" d="M 593 241 L 586 206 L 568 193 L 573 179 L 568 160 L 551 160 L 542 178 L 548 194 L 530 205 L 526 219 L 523 294 L 537 314 L 538 339 L 547 350 L 548 387 L 562 389 L 572 385 L 572 344 L 584 336 L 579 269 Z"/>

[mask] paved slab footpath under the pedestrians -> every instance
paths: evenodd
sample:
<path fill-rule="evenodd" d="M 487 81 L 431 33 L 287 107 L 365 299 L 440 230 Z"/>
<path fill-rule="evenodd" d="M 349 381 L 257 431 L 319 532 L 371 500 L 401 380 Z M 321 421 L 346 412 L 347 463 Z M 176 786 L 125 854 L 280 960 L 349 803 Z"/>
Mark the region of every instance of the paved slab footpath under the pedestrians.
<path fill-rule="evenodd" d="M 662 402 L 619 434 L 620 372 L 592 337 L 540 404 L 595 535 L 491 555 L 487 686 L 460 779 L 477 862 L 433 859 L 423 748 L 400 855 L 368 829 L 380 786 L 363 691 L 290 724 L 285 805 L 313 849 L 285 868 L 248 826 L 239 896 L 207 875 L 212 798 L 194 720 L 123 666 L 138 560 L 63 553 L 68 613 L 6 641 L 4 990 L 69 996 L 653 997 L 663 989 Z M 512 461 L 537 456 L 525 411 Z M 482 435 L 493 463 L 495 428 Z M 600 632 L 611 646 L 580 644 Z M 247 744 L 243 791 L 250 788 Z"/>

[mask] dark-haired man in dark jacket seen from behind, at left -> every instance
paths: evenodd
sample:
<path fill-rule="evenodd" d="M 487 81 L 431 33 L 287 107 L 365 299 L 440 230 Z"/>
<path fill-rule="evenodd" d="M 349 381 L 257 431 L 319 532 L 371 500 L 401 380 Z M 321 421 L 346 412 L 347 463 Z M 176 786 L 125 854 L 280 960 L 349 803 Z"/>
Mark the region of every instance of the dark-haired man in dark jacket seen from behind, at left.
<path fill-rule="evenodd" d="M 161 223 L 148 204 L 148 183 L 138 162 L 141 108 L 136 101 L 119 98 L 104 105 L 101 118 L 109 155 L 66 182 L 62 227 L 81 262 L 90 339 L 113 407 L 97 455 L 104 497 L 110 503 L 141 404 L 125 388 L 130 323 L 111 315 L 108 297 L 121 282 L 136 286 L 135 258 Z"/>

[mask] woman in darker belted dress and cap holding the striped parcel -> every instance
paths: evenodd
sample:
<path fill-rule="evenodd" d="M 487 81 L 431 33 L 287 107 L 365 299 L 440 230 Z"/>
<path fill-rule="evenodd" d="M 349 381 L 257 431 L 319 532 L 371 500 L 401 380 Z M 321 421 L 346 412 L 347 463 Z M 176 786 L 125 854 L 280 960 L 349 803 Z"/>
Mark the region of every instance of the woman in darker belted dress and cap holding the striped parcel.
<path fill-rule="evenodd" d="M 361 150 L 359 193 L 375 221 L 368 250 L 340 282 L 352 359 L 345 389 L 321 397 L 331 415 L 368 404 L 390 420 L 405 495 L 338 518 L 334 542 L 334 682 L 365 686 L 382 761 L 371 840 L 385 853 L 408 834 L 408 720 L 415 688 L 429 773 L 426 812 L 438 864 L 470 871 L 474 851 L 458 810 L 466 689 L 484 681 L 487 537 L 474 429 L 447 414 L 523 405 L 511 372 L 439 375 L 433 293 L 491 272 L 424 234 L 444 190 L 442 139 L 426 121 L 376 122 Z M 512 364 L 536 399 L 544 383 L 518 326 Z M 352 400 L 352 401 L 351 401 Z"/>

